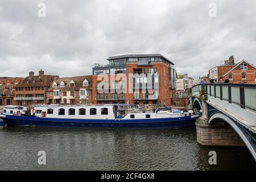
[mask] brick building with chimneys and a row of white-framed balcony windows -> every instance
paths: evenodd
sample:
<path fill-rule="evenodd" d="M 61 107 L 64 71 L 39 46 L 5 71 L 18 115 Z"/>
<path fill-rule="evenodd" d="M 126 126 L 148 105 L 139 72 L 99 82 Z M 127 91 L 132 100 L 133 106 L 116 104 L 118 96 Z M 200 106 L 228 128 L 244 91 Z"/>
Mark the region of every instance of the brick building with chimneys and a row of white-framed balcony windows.
<path fill-rule="evenodd" d="M 15 85 L 15 105 L 46 104 L 46 92 L 56 78 L 59 76 L 44 75 L 42 70 L 36 76 L 29 72 L 29 76 Z"/>

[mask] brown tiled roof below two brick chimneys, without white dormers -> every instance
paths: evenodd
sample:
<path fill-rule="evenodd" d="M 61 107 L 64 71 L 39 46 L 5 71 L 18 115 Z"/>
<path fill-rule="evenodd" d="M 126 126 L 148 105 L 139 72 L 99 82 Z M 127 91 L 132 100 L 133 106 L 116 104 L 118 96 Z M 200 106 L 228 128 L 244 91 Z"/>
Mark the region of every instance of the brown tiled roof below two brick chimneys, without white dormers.
<path fill-rule="evenodd" d="M 51 86 L 52 81 L 54 78 L 59 76 L 53 75 L 37 75 L 37 76 L 27 76 L 23 78 L 17 85 L 16 88 L 19 87 L 29 87 L 29 86 Z"/>

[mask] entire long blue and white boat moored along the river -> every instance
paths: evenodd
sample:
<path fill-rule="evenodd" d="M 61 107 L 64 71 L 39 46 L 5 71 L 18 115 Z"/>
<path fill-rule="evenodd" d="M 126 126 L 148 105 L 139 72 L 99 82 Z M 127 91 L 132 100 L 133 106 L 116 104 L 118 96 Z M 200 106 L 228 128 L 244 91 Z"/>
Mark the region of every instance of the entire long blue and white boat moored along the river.
<path fill-rule="evenodd" d="M 7 125 L 31 127 L 158 129 L 195 126 L 201 111 L 152 106 L 34 105 L 26 113 L 0 114 Z"/>

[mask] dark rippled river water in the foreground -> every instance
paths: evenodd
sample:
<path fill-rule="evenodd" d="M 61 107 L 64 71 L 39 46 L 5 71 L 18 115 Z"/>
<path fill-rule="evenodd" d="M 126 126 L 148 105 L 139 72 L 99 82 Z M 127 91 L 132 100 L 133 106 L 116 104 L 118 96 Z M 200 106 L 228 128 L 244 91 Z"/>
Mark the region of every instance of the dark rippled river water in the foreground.
<path fill-rule="evenodd" d="M 0 129 L 0 170 L 256 169 L 246 147 L 201 147 L 196 129 Z M 46 165 L 38 152 L 46 152 Z M 216 151 L 217 165 L 208 163 Z"/>

